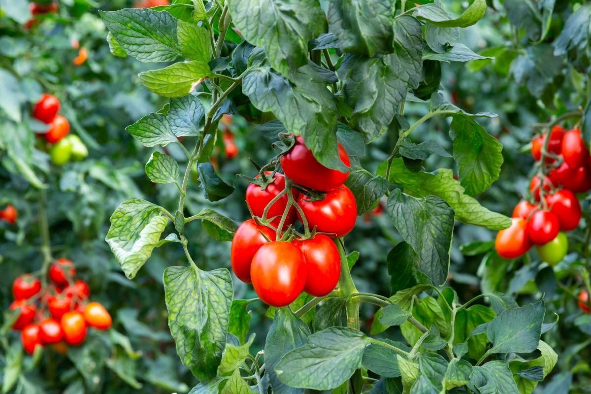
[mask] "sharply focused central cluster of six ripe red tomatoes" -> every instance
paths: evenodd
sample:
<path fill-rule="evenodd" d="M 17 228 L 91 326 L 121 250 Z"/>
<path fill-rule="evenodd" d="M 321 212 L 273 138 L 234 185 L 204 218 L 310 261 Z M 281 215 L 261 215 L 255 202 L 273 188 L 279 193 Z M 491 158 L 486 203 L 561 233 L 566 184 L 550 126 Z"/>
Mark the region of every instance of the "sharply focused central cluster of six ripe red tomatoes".
<path fill-rule="evenodd" d="M 339 154 L 349 167 L 340 144 Z M 331 237 L 348 234 L 357 217 L 355 197 L 343 185 L 349 173 L 320 164 L 301 136 L 280 164 L 285 175 L 261 171 L 248 186 L 253 219 L 238 227 L 230 252 L 235 275 L 274 307 L 291 304 L 303 291 L 323 297 L 335 289 L 341 258 Z M 297 219 L 304 235 L 294 230 Z"/>

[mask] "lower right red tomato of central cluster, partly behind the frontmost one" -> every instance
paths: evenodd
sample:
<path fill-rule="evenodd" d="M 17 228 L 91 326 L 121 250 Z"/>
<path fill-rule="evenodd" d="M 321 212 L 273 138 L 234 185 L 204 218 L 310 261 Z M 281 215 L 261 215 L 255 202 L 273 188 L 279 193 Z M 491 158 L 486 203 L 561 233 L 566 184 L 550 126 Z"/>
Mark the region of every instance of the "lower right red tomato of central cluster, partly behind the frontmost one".
<path fill-rule="evenodd" d="M 317 234 L 313 239 L 294 240 L 306 262 L 304 291 L 323 297 L 335 289 L 340 277 L 339 249 L 330 237 Z"/>

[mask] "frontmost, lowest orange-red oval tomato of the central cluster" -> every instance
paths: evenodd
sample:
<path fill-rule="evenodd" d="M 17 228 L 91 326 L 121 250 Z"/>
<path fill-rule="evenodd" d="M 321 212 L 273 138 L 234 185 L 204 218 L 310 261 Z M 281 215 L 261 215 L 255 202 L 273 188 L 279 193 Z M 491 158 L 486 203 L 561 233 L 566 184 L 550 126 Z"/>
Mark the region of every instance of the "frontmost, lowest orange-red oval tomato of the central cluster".
<path fill-rule="evenodd" d="M 265 304 L 285 307 L 306 285 L 306 262 L 290 242 L 268 242 L 256 252 L 251 265 L 252 286 Z"/>

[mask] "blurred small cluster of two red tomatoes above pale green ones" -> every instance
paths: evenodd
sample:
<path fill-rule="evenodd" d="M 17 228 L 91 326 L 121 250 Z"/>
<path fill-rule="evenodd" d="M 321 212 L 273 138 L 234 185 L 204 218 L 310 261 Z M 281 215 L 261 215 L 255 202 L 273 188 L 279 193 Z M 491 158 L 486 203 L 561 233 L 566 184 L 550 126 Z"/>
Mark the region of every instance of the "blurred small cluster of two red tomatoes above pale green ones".
<path fill-rule="evenodd" d="M 88 156 L 88 149 L 79 136 L 69 135 L 70 122 L 57 115 L 60 106 L 56 96 L 44 93 L 33 108 L 33 117 L 49 125 L 47 132 L 41 136 L 51 145 L 49 155 L 55 165 L 64 165 L 70 160 L 82 160 Z"/>

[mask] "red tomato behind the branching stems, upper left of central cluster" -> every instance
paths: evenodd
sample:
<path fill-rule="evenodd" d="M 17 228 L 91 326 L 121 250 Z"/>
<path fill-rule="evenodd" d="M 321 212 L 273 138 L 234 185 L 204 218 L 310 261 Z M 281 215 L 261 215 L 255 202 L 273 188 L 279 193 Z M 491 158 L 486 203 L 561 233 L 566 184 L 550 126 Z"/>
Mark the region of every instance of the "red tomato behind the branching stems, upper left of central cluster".
<path fill-rule="evenodd" d="M 267 171 L 265 174 L 271 175 L 272 172 Z M 259 178 L 259 175 L 256 175 L 256 178 Z M 262 213 L 267 204 L 285 188 L 285 177 L 283 174 L 276 173 L 273 178 L 273 183 L 268 184 L 265 190 L 262 190 L 259 185 L 255 185 L 254 183 L 249 184 L 248 188 L 246 188 L 246 204 L 248 204 L 255 216 L 262 217 Z M 299 196 L 297 190 L 292 188 L 291 193 L 297 200 L 297 197 Z M 271 217 L 277 216 L 271 222 L 275 228 L 277 228 L 281 222 L 281 215 L 285 211 L 285 207 L 287 207 L 287 200 L 287 195 L 284 194 L 279 200 L 275 201 L 271 208 L 269 208 L 267 218 L 271 219 Z M 296 222 L 296 207 L 291 207 L 287 213 L 287 217 L 285 217 L 284 229 L 294 222 Z"/>

